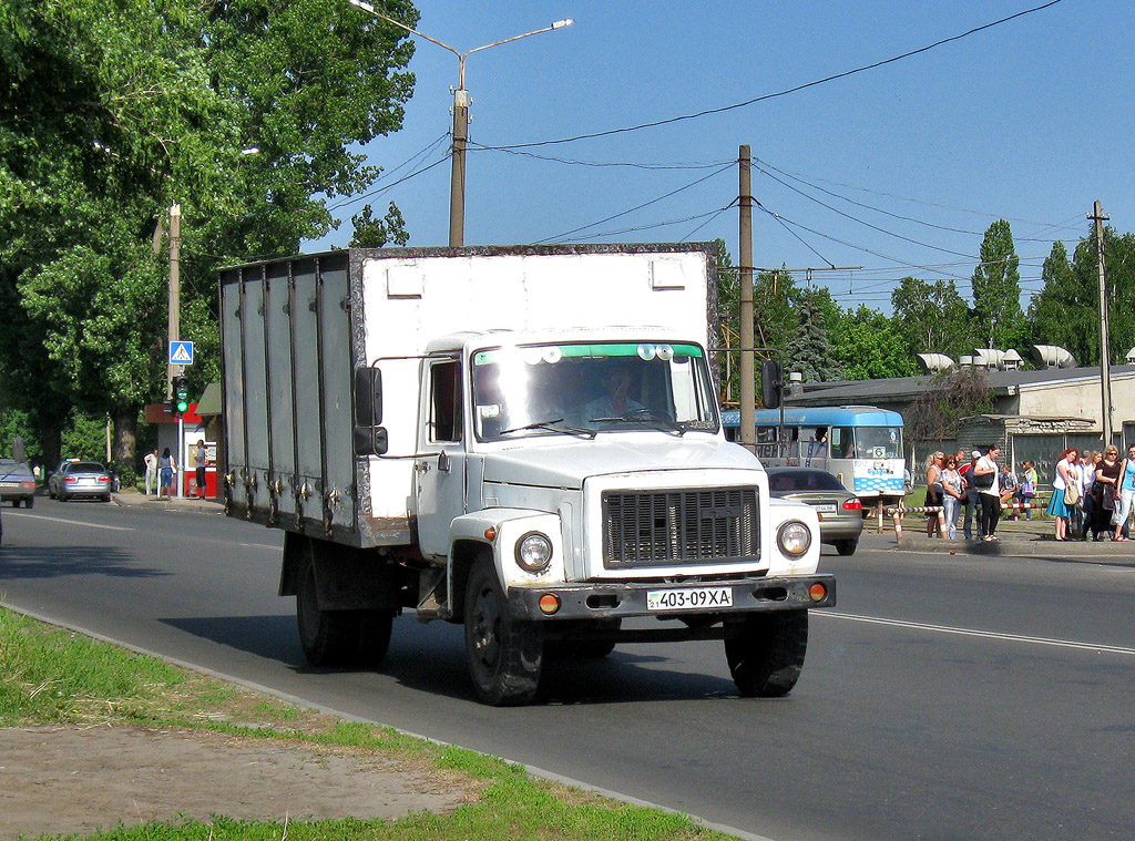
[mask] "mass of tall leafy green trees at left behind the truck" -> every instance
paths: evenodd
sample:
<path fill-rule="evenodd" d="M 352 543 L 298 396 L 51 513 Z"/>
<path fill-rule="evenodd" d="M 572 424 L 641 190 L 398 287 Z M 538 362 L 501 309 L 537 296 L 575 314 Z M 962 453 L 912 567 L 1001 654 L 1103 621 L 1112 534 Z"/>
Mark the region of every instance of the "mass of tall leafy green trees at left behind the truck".
<path fill-rule="evenodd" d="M 217 268 L 336 224 L 325 200 L 377 176 L 351 148 L 401 125 L 411 53 L 334 0 L 0 5 L 0 379 L 45 452 L 75 406 L 111 412 L 133 456 L 163 393 L 165 208 L 184 219 L 182 336 L 216 347 Z M 201 362 L 195 388 L 217 376 Z"/>

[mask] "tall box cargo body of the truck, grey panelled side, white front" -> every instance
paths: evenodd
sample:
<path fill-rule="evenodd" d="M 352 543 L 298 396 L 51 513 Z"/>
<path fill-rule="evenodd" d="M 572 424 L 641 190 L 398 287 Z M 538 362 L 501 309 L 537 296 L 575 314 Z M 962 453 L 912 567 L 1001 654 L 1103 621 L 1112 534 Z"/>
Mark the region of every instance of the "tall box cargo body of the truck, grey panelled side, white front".
<path fill-rule="evenodd" d="M 329 518 L 356 546 L 409 544 L 419 364 L 431 340 L 634 323 L 711 346 L 715 289 L 708 253 L 690 246 L 351 249 L 226 270 L 234 511 L 320 532 Z M 379 361 L 384 390 L 402 395 L 385 401 L 389 457 L 356 464 L 351 372 Z"/>

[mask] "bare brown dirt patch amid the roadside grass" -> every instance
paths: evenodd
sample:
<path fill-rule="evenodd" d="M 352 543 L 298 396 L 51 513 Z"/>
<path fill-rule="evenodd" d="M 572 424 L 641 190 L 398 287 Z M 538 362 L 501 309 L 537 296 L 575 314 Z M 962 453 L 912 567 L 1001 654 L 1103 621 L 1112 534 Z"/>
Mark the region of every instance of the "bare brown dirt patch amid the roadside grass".
<path fill-rule="evenodd" d="M 345 749 L 190 730 L 0 730 L 0 841 L 212 815 L 393 819 L 476 797 L 465 780 Z"/>

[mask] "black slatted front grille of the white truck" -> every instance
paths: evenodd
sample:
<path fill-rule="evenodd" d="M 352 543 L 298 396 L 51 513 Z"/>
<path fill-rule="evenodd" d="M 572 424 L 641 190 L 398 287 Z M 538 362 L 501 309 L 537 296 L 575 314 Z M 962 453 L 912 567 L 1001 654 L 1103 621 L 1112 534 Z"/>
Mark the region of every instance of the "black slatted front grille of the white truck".
<path fill-rule="evenodd" d="M 756 488 L 607 490 L 603 564 L 607 569 L 735 563 L 760 556 Z"/>

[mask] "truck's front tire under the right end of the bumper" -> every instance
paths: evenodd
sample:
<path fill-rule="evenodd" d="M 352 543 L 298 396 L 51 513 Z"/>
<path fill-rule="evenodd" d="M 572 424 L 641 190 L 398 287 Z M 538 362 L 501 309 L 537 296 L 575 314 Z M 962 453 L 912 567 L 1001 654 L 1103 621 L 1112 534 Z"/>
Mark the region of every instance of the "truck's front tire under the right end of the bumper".
<path fill-rule="evenodd" d="M 800 679 L 808 650 L 808 612 L 754 613 L 725 639 L 733 682 L 748 698 L 780 698 Z"/>

